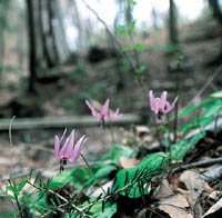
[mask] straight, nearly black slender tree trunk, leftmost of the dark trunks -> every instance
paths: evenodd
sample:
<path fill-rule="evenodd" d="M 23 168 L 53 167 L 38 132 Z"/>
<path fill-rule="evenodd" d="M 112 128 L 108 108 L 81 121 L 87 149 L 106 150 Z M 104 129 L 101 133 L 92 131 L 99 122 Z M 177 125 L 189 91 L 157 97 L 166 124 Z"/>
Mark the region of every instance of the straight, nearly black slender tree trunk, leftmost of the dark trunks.
<path fill-rule="evenodd" d="M 37 93 L 37 48 L 34 33 L 34 8 L 33 0 L 27 0 L 27 16 L 28 16 L 28 40 L 29 40 L 29 87 L 30 93 Z"/>

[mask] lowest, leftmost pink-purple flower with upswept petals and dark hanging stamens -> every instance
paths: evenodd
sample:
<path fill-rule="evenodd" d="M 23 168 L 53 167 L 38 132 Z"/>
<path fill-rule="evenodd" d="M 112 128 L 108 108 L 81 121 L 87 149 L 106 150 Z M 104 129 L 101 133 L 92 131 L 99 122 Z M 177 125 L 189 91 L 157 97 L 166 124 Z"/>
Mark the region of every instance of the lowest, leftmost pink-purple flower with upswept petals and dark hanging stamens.
<path fill-rule="evenodd" d="M 60 160 L 60 171 L 63 171 L 63 166 L 67 165 L 67 160 L 69 160 L 70 162 L 75 162 L 79 159 L 82 147 L 88 139 L 85 138 L 85 136 L 82 136 L 74 145 L 74 130 L 72 130 L 70 136 L 64 141 L 61 150 L 59 150 L 60 143 L 64 138 L 65 132 L 67 129 L 64 130 L 61 138 L 59 138 L 58 136 L 54 137 L 54 156 L 57 159 Z"/>

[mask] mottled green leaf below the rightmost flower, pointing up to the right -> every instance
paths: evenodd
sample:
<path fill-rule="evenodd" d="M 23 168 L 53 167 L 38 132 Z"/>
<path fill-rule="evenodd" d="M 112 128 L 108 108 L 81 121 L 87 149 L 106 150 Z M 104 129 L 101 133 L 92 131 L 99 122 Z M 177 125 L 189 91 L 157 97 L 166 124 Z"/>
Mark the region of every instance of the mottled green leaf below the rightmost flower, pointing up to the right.
<path fill-rule="evenodd" d="M 193 136 L 189 141 L 182 139 L 170 147 L 171 158 L 182 160 L 185 153 L 195 146 L 195 143 L 205 136 L 205 132 L 200 132 Z"/>

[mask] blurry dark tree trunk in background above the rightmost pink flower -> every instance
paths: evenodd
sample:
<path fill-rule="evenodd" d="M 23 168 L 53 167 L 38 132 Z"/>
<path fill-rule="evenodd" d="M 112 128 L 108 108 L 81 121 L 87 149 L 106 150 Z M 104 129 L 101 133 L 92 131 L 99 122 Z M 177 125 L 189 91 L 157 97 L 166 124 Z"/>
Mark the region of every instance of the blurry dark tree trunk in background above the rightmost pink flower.
<path fill-rule="evenodd" d="M 178 44 L 178 26 L 176 26 L 176 8 L 173 0 L 170 0 L 169 10 L 169 42 Z"/>

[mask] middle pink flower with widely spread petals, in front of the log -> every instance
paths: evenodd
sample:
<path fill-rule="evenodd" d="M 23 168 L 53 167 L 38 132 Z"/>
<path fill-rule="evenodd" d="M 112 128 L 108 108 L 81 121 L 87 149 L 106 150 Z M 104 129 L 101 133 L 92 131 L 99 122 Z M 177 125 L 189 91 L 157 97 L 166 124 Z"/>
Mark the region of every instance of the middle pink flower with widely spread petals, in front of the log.
<path fill-rule="evenodd" d="M 98 112 L 95 108 L 92 105 L 90 105 L 88 100 L 85 100 L 85 103 L 90 108 L 92 116 L 100 119 L 100 128 L 104 128 L 105 120 L 114 120 L 123 116 L 119 113 L 119 108 L 115 110 L 114 115 L 109 116 L 109 105 L 110 105 L 109 98 L 105 100 L 104 105 L 102 106 L 101 112 Z"/>

